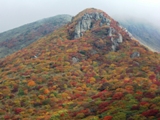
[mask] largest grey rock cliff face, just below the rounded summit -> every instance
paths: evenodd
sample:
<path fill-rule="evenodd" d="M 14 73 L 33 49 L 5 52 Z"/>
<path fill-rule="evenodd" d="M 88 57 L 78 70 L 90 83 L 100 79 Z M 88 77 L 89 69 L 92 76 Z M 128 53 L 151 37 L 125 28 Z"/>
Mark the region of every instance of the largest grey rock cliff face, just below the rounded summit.
<path fill-rule="evenodd" d="M 103 13 L 97 12 L 92 14 L 84 14 L 75 27 L 74 39 L 82 37 L 83 32 L 92 29 L 94 27 L 93 22 L 97 20 L 101 20 L 99 26 L 104 24 L 110 25 L 110 20 L 104 17 Z"/>

